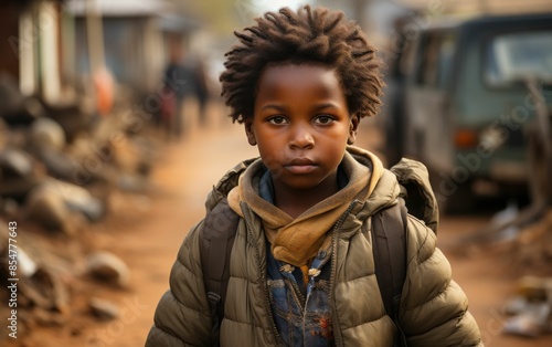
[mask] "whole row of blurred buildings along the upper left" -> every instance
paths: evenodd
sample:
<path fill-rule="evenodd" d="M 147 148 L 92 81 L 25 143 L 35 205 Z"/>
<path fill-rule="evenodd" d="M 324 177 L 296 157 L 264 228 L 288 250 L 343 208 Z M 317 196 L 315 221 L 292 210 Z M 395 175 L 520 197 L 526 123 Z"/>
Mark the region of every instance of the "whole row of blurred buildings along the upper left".
<path fill-rule="evenodd" d="M 7 0 L 0 8 L 0 74 L 53 105 L 87 94 L 91 71 L 102 65 L 117 85 L 150 93 L 170 42 L 185 46 L 200 27 L 166 0 Z"/>

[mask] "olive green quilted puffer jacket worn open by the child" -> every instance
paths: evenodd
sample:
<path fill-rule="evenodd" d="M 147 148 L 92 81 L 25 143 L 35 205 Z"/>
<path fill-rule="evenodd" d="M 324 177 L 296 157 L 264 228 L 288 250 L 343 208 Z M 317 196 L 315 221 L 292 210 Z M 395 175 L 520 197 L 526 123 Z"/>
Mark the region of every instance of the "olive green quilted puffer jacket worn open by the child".
<path fill-rule="evenodd" d="M 354 158 L 367 165 L 381 162 L 355 149 Z M 210 211 L 237 182 L 243 162 L 219 182 L 210 193 Z M 423 166 L 403 162 L 413 176 L 426 176 Z M 397 174 L 397 172 L 395 172 Z M 411 175 L 412 176 L 412 175 Z M 333 231 L 331 297 L 333 335 L 337 346 L 393 345 L 395 326 L 385 314 L 374 274 L 370 215 L 396 203 L 400 188 L 396 176 L 388 170 L 374 192 L 364 201 L 354 201 Z M 436 207 L 429 203 L 428 223 L 436 228 Z M 433 209 L 433 210 L 432 210 Z M 266 286 L 266 242 L 261 220 L 242 202 L 230 263 L 222 346 L 279 346 L 273 323 Z M 211 314 L 200 261 L 200 233 L 203 221 L 187 235 L 170 275 L 170 290 L 161 297 L 147 346 L 209 346 Z M 452 280 L 450 266 L 436 248 L 436 235 L 424 222 L 410 215 L 406 233 L 406 280 L 399 312 L 400 325 L 408 346 L 482 346 L 478 326 L 467 312 L 468 301 Z"/>

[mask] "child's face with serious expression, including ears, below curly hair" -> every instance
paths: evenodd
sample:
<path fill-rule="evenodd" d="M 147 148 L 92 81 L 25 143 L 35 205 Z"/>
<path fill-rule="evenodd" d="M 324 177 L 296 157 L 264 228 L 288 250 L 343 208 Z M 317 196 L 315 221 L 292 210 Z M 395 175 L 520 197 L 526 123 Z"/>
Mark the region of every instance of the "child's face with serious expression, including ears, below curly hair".
<path fill-rule="evenodd" d="M 336 182 L 357 128 L 336 72 L 309 64 L 267 67 L 253 118 L 245 120 L 247 139 L 257 145 L 275 183 L 299 190 Z"/>

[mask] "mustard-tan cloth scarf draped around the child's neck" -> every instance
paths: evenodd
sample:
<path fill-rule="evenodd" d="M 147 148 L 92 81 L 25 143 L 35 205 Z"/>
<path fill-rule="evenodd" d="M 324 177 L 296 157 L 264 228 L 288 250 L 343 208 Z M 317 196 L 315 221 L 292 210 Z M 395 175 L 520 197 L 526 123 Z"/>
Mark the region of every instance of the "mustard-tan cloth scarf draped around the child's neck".
<path fill-rule="evenodd" d="M 349 150 L 367 154 L 354 147 Z M 374 166 L 375 170 L 370 175 L 370 169 L 349 153 L 346 153 L 341 166 L 349 178 L 347 186 L 296 219 L 258 194 L 259 170 L 264 168 L 261 160 L 253 162 L 241 177 L 238 186 L 231 190 L 230 207 L 242 214 L 240 201 L 245 201 L 261 217 L 274 257 L 295 266 L 304 266 L 320 249 L 329 248 L 331 233 L 328 231 L 353 200 L 368 199 L 383 174 L 380 166 Z"/>

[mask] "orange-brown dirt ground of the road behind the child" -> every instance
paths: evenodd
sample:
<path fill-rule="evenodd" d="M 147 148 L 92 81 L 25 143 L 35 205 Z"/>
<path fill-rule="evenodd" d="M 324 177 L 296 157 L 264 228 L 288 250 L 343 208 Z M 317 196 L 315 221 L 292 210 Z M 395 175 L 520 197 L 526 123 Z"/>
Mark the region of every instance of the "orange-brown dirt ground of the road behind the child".
<path fill-rule="evenodd" d="M 62 326 L 21 330 L 18 344 L 10 339 L 7 346 L 144 345 L 156 305 L 168 288 L 169 272 L 180 243 L 204 212 L 206 192 L 238 160 L 256 156 L 240 125 L 232 125 L 230 120 L 213 123 L 208 129 L 192 125 L 184 139 L 167 145 L 152 172 L 155 193 L 125 197 L 120 213 L 95 229 L 96 246 L 117 254 L 130 267 L 129 288 L 116 290 L 93 282 L 81 285 L 72 293 L 75 297 L 72 309 L 78 318 Z M 373 144 L 373 136 L 371 129 L 362 129 L 361 145 Z M 480 326 L 485 345 L 552 346 L 550 335 L 537 339 L 502 335 L 506 318 L 501 306 L 521 275 L 510 271 L 506 259 L 471 249 L 455 251 L 459 236 L 484 227 L 488 219 L 489 215 L 445 218 L 438 235 L 439 245 L 453 265 L 454 278 L 469 297 L 470 312 Z M 92 318 L 83 299 L 91 292 L 117 303 L 119 318 L 108 322 Z"/>

